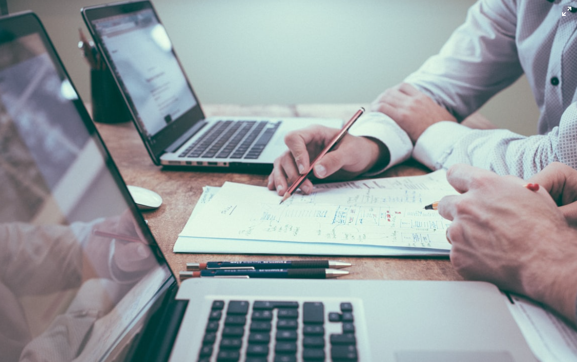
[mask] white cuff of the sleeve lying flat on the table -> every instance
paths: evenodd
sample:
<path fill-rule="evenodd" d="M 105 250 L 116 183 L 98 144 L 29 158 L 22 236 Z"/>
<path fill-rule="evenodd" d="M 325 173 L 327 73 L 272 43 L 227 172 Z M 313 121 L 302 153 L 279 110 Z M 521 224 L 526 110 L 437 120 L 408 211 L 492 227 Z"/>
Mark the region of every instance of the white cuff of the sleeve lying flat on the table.
<path fill-rule="evenodd" d="M 457 122 L 437 122 L 419 137 L 413 148 L 413 158 L 431 170 L 441 169 L 455 143 L 469 132 L 469 127 Z"/>

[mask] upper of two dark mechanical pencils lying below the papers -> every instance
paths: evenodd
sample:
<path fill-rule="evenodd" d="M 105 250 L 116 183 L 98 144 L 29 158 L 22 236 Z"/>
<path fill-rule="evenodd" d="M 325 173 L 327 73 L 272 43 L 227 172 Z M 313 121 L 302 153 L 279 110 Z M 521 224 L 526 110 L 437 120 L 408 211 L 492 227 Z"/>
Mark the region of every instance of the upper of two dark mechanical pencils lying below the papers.
<path fill-rule="evenodd" d="M 186 270 L 213 269 L 298 269 L 298 268 L 346 268 L 351 263 L 335 260 L 274 260 L 271 262 L 207 262 L 186 263 Z"/>

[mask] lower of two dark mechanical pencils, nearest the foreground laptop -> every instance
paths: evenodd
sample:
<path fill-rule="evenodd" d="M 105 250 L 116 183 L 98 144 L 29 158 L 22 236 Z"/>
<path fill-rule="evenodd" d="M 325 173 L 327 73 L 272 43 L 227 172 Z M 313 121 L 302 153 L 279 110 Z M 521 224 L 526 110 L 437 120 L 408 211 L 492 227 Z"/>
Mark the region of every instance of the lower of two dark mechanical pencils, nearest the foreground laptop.
<path fill-rule="evenodd" d="M 181 271 L 181 279 L 188 278 L 308 278 L 328 279 L 349 274 L 339 269 L 222 269 Z"/>

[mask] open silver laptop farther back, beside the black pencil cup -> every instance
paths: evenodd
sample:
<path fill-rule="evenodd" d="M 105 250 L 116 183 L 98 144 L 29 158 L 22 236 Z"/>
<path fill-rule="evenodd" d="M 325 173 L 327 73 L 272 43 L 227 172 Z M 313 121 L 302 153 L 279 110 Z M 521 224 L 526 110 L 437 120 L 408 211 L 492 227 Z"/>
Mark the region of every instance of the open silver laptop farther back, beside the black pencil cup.
<path fill-rule="evenodd" d="M 156 165 L 268 172 L 287 150 L 288 132 L 343 124 L 324 118 L 207 118 L 151 2 L 91 6 L 82 14 Z"/>

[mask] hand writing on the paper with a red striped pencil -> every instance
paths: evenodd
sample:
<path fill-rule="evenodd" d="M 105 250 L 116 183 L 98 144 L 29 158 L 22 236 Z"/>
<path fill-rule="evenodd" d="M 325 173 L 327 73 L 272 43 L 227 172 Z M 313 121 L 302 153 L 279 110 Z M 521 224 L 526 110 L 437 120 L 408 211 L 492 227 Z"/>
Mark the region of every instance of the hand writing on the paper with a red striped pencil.
<path fill-rule="evenodd" d="M 275 160 L 274 168 L 268 177 L 268 189 L 284 195 L 288 185 L 297 180 L 300 174 L 306 173 L 310 162 L 338 132 L 339 129 L 336 128 L 314 125 L 288 133 L 284 137 L 288 151 Z M 314 166 L 314 176 L 353 178 L 368 171 L 383 156 L 383 149 L 388 155 L 388 149 L 377 141 L 347 133 L 336 148 Z M 302 192 L 309 194 L 313 191 L 313 184 L 310 180 L 305 180 L 300 188 Z"/>

